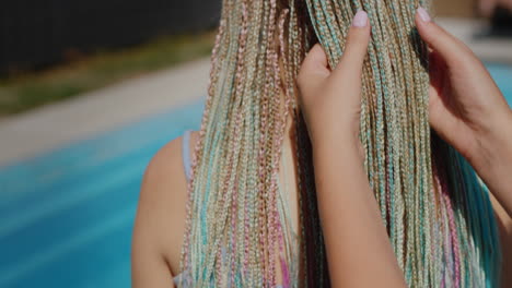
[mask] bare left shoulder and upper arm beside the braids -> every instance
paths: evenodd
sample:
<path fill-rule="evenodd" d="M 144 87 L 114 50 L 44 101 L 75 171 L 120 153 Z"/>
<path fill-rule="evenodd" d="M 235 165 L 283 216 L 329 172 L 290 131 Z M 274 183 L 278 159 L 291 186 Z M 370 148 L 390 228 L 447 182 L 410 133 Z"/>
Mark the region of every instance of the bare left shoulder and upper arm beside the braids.
<path fill-rule="evenodd" d="M 193 151 L 197 133 L 189 139 Z M 133 248 L 148 247 L 172 265 L 178 259 L 185 231 L 187 180 L 181 136 L 168 142 L 146 168 L 139 195 Z M 167 259 L 170 257 L 170 259 Z"/>

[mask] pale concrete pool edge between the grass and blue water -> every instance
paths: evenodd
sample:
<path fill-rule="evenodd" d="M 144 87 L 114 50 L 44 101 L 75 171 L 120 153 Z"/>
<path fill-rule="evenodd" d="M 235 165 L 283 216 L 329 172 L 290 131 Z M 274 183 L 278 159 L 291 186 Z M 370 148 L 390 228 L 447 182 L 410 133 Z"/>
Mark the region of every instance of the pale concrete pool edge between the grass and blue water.
<path fill-rule="evenodd" d="M 441 19 L 486 62 L 512 63 L 512 40 L 476 39 L 485 23 Z M 209 59 L 128 80 L 0 120 L 0 167 L 205 97 Z"/>

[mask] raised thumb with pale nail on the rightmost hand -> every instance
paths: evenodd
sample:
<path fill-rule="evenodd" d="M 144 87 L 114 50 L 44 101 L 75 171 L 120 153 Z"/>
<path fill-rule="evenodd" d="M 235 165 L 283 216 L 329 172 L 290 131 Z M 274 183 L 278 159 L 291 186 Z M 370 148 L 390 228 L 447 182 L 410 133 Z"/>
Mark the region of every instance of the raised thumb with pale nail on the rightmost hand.
<path fill-rule="evenodd" d="M 427 10 L 421 7 L 416 13 L 416 26 L 421 38 L 447 63 L 462 64 L 475 58 L 464 43 L 432 22 Z"/>

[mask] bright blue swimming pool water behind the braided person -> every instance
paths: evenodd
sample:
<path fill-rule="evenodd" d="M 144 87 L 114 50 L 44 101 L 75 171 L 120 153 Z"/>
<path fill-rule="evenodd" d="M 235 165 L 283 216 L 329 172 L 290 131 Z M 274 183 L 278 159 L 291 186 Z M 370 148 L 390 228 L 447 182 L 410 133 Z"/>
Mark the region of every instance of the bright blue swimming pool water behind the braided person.
<path fill-rule="evenodd" d="M 512 68 L 489 69 L 512 105 Z M 199 127 L 201 110 L 189 105 L 0 167 L 0 287 L 129 287 L 143 170 Z"/>

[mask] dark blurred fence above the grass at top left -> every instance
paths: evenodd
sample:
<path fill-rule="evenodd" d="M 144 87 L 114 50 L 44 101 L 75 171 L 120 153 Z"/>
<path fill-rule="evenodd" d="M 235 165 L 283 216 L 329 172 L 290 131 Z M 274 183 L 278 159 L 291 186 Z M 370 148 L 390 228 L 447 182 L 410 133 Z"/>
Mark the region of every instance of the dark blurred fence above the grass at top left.
<path fill-rule="evenodd" d="M 0 74 L 213 27 L 220 0 L 1 0 Z"/>

